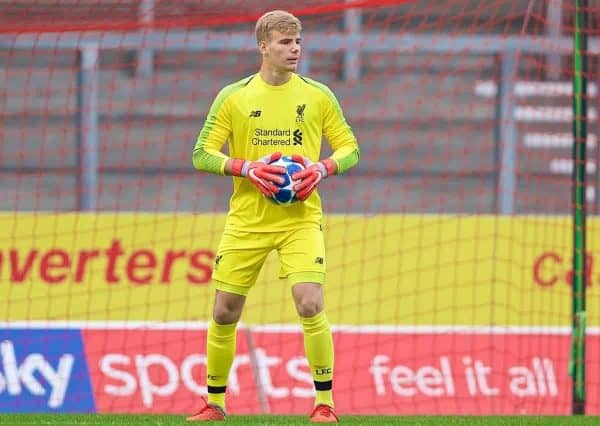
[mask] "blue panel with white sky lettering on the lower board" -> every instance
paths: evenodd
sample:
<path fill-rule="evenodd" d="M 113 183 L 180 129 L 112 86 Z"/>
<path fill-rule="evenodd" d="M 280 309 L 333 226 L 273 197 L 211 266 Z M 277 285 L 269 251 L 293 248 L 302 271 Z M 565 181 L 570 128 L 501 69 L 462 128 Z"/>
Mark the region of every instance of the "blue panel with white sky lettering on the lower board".
<path fill-rule="evenodd" d="M 77 330 L 0 329 L 0 412 L 94 412 Z"/>

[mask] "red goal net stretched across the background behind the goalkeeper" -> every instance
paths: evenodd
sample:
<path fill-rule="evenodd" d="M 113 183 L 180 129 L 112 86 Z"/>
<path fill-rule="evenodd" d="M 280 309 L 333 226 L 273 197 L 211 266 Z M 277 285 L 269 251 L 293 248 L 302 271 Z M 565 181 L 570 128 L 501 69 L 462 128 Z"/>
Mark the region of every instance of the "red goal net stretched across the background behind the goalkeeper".
<path fill-rule="evenodd" d="M 0 411 L 181 414 L 206 395 L 232 185 L 191 153 L 277 8 L 302 20 L 299 72 L 335 92 L 361 147 L 319 187 L 337 411 L 570 413 L 572 3 L 0 1 Z M 587 95 L 600 414 L 592 78 Z M 273 253 L 238 329 L 235 414 L 313 403 L 278 272 Z"/>

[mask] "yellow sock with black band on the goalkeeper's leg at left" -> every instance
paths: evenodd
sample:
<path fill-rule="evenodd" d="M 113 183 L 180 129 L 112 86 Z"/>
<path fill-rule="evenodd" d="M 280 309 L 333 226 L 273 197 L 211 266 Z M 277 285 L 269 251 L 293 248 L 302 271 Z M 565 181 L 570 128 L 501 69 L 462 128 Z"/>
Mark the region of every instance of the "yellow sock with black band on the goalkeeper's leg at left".
<path fill-rule="evenodd" d="M 235 328 L 237 323 L 217 324 L 213 319 L 208 324 L 206 337 L 206 385 L 208 403 L 225 410 L 225 390 L 229 370 L 235 356 Z"/>

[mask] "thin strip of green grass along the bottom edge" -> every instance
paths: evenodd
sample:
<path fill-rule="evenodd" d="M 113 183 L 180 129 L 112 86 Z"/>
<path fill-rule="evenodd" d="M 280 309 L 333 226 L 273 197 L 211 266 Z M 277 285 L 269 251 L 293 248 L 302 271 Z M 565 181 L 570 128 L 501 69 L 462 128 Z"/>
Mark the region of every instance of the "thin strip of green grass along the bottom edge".
<path fill-rule="evenodd" d="M 191 425 L 185 416 L 107 415 L 107 414 L 0 414 L 0 425 L 48 426 L 128 426 L 128 425 Z M 308 425 L 307 416 L 229 416 L 224 425 Z M 407 426 L 517 426 L 517 425 L 599 425 L 600 417 L 592 416 L 341 416 L 344 425 L 407 425 Z"/>

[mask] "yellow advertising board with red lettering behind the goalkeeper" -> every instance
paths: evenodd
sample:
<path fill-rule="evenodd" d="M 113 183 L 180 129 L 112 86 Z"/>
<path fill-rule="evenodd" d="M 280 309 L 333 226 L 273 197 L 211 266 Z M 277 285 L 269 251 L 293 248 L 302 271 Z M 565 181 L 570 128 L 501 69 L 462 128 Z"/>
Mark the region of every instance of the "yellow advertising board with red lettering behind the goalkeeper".
<path fill-rule="evenodd" d="M 205 321 L 224 215 L 0 215 L 0 321 Z M 571 220 L 328 216 L 335 324 L 571 324 Z M 588 221 L 588 324 L 600 325 L 600 220 Z M 269 257 L 242 320 L 297 323 Z"/>

